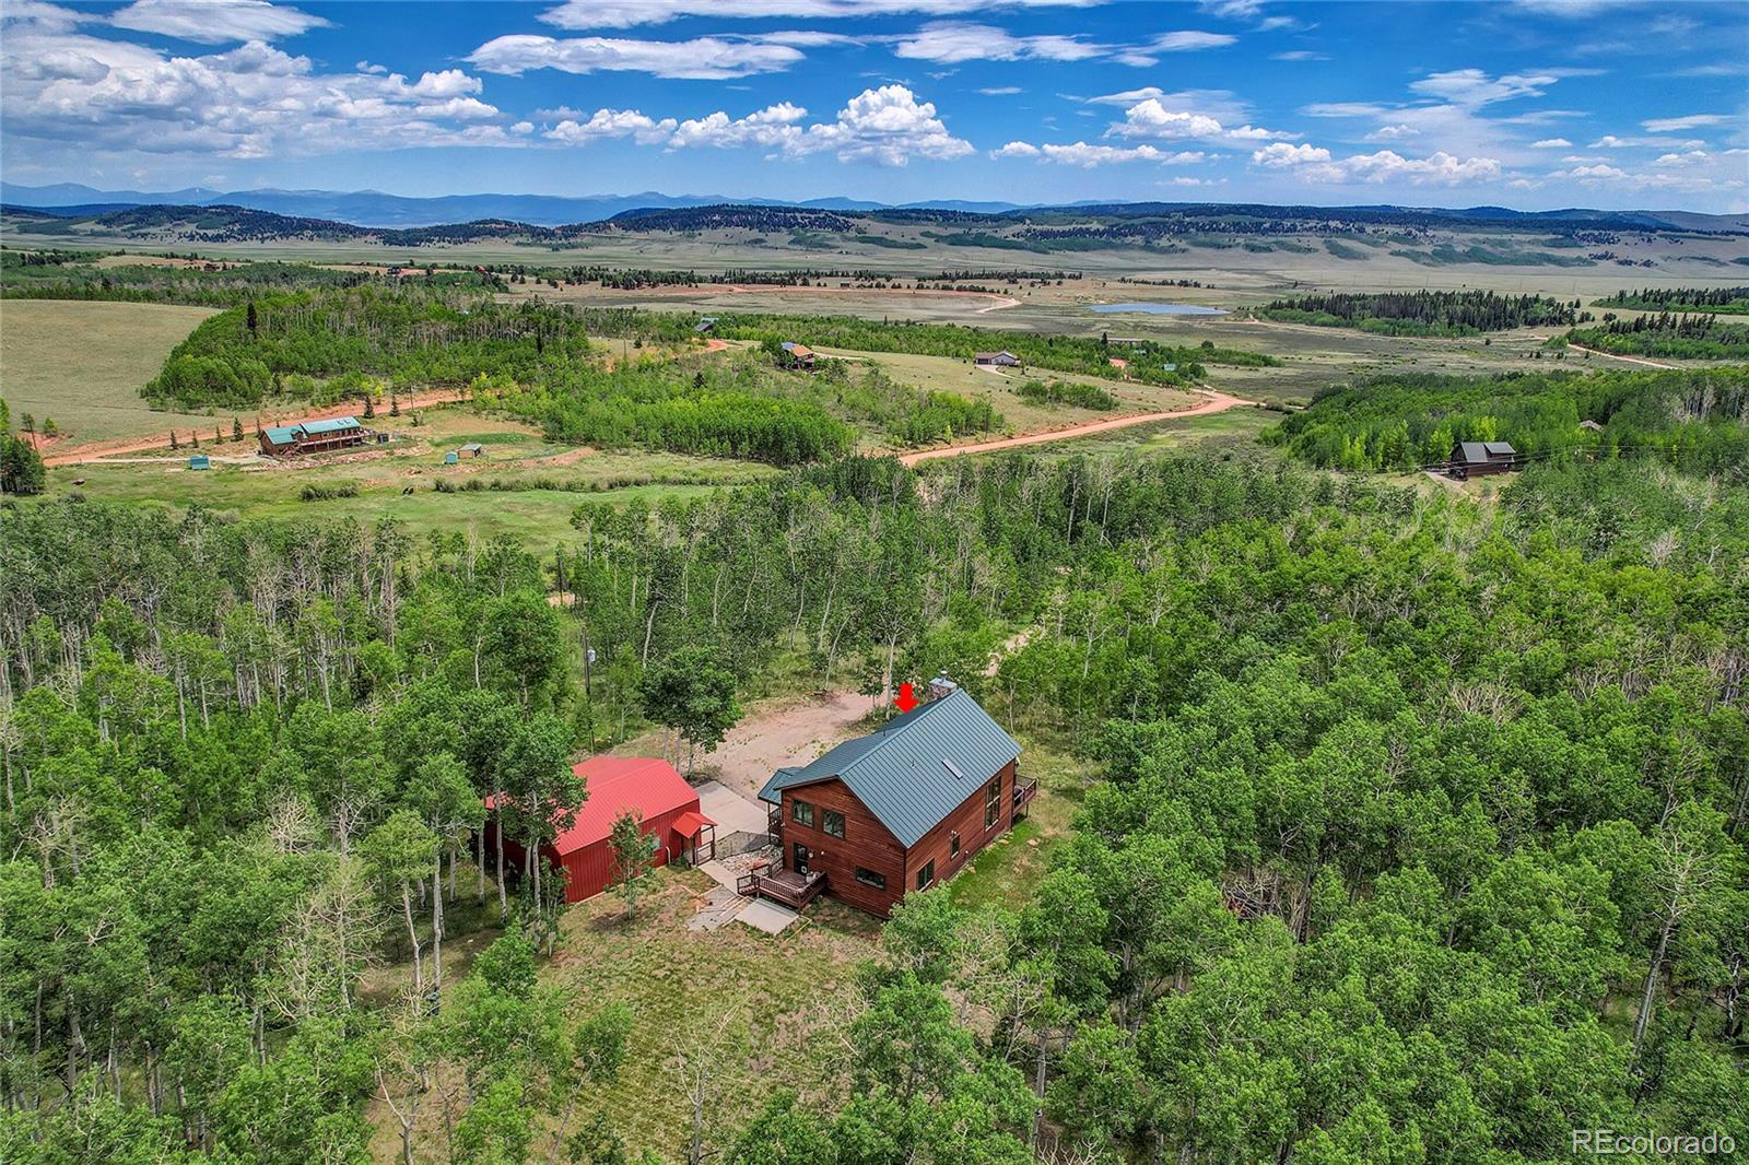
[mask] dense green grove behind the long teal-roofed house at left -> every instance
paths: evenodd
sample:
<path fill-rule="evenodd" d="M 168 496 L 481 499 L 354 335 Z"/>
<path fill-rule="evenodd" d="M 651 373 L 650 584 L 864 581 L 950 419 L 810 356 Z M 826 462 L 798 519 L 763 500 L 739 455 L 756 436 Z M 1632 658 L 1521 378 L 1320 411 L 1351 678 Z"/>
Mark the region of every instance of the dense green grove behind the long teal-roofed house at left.
<path fill-rule="evenodd" d="M 563 308 L 442 289 L 292 292 L 203 320 L 142 394 L 201 408 L 255 404 L 294 376 L 369 374 L 397 388 L 533 380 L 586 353 L 582 324 Z"/>

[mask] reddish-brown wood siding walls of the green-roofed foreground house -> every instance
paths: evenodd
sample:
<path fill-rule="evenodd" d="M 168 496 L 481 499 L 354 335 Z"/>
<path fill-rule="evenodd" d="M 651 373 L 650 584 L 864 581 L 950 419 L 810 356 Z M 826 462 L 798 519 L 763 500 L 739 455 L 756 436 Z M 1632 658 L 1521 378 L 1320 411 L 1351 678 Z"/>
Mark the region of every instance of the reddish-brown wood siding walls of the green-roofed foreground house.
<path fill-rule="evenodd" d="M 1002 792 L 997 799 L 997 819 L 985 827 L 985 796 L 988 777 L 979 780 L 958 808 L 941 824 L 925 833 L 906 850 L 862 801 L 836 777 L 812 785 L 782 791 L 784 798 L 784 868 L 794 866 L 794 843 L 808 847 L 808 869 L 826 873 L 826 892 L 841 903 L 885 918 L 909 890 L 916 889 L 916 871 L 936 862 L 936 885 L 951 878 L 971 861 L 972 854 L 1014 827 L 1014 761 L 1002 766 Z M 813 826 L 796 822 L 792 803 L 813 806 Z M 845 838 L 826 833 L 826 810 L 845 815 Z M 960 852 L 951 854 L 953 834 L 960 834 Z M 878 890 L 857 882 L 857 866 L 887 878 L 887 889 Z"/>

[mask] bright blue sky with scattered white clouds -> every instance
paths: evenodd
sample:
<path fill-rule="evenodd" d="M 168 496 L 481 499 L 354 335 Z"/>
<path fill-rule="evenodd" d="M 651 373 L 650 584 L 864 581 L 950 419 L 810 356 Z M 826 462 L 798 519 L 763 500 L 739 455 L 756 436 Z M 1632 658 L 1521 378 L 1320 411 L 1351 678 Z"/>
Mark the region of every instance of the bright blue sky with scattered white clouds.
<path fill-rule="evenodd" d="M 1749 210 L 1749 3 L 0 3 L 21 184 Z"/>

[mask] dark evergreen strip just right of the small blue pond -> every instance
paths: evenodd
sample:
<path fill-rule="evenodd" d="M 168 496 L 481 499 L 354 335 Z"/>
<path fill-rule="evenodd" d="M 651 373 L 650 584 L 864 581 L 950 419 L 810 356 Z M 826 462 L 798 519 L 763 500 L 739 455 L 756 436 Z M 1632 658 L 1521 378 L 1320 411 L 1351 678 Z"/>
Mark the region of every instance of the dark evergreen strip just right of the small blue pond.
<path fill-rule="evenodd" d="M 1329 292 L 1277 299 L 1259 308 L 1258 315 L 1383 336 L 1474 336 L 1513 327 L 1567 327 L 1581 322 L 1578 308 L 1578 301 L 1490 290 Z"/>

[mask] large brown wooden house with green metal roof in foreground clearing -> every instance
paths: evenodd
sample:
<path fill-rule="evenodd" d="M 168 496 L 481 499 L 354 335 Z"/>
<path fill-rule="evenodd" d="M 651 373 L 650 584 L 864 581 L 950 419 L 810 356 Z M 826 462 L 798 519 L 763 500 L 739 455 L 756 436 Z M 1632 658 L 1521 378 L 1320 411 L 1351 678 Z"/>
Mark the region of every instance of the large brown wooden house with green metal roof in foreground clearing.
<path fill-rule="evenodd" d="M 951 684 L 930 693 L 878 731 L 771 775 L 759 799 L 782 868 L 749 890 L 798 908 L 824 892 L 885 918 L 1025 815 L 1037 785 L 1018 777 L 1014 738 Z"/>

